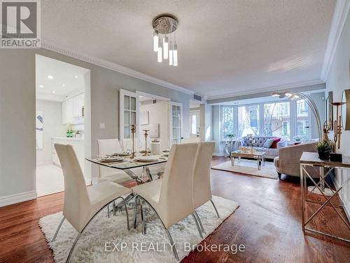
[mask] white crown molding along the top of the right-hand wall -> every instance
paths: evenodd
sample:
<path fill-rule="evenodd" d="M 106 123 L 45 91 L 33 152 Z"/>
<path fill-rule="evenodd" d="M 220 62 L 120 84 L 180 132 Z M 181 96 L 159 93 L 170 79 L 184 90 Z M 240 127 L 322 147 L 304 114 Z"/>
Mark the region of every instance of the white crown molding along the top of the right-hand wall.
<path fill-rule="evenodd" d="M 323 58 L 323 65 L 321 70 L 321 79 L 326 81 L 328 78 L 328 72 L 330 65 L 337 50 L 337 45 L 342 30 L 344 28 L 346 16 L 349 13 L 350 0 L 337 0 L 335 5 L 335 11 L 332 18 L 332 24 L 330 25 L 330 32 L 328 34 L 327 48 L 325 49 L 325 56 Z"/>

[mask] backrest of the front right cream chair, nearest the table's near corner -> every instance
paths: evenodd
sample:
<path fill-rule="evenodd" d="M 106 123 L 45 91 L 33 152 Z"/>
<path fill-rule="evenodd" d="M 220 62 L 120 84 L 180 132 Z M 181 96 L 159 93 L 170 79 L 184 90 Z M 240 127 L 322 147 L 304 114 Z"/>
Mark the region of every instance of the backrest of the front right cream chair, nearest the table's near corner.
<path fill-rule="evenodd" d="M 197 144 L 173 144 L 160 189 L 160 215 L 170 227 L 193 213 L 193 168 Z"/>

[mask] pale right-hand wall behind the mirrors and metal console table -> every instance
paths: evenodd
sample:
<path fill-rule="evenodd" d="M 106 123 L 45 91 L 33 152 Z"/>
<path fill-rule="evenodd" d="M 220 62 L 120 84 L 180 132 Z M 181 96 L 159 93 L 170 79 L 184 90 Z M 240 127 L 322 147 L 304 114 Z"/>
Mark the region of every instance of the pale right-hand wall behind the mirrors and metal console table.
<path fill-rule="evenodd" d="M 326 89 L 333 91 L 333 101 L 341 101 L 343 90 L 350 89 L 350 13 L 348 13 L 342 34 L 340 36 L 335 57 L 330 66 L 330 72 L 326 81 Z M 344 107 L 344 106 L 343 106 Z M 332 138 L 332 134 L 330 134 Z M 339 153 L 343 158 L 350 159 L 350 130 L 342 131 L 342 144 Z M 347 173 L 347 174 L 346 174 Z M 338 173 L 337 181 L 343 182 L 349 177 L 349 172 Z M 342 201 L 346 204 L 348 216 L 350 215 L 350 184 L 347 184 L 342 195 Z"/>

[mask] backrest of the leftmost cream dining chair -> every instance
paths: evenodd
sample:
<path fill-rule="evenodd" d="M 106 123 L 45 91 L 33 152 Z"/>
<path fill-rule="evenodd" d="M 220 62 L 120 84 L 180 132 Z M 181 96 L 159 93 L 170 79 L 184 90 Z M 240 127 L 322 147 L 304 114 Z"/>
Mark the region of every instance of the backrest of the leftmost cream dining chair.
<path fill-rule="evenodd" d="M 73 227 L 80 229 L 83 212 L 90 204 L 83 172 L 71 145 L 55 144 L 64 175 L 63 215 Z"/>

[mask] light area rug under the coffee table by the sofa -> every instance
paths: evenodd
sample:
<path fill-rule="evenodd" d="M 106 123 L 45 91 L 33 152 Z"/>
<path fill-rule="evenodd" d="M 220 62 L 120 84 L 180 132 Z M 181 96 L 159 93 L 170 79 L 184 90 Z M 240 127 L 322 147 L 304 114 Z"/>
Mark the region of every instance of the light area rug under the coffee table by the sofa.
<path fill-rule="evenodd" d="M 274 167 L 274 163 L 268 161 L 265 163 L 265 166 L 261 165 L 261 170 L 258 170 L 257 161 L 245 159 L 241 159 L 241 163 L 236 160 L 235 166 L 232 166 L 231 161 L 227 161 L 211 168 L 215 170 L 224 170 L 232 173 L 242 173 L 244 175 L 254 175 L 271 179 L 277 179 L 279 177 L 276 172 L 276 168 Z"/>

